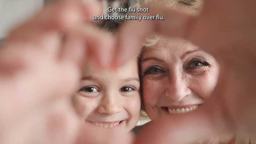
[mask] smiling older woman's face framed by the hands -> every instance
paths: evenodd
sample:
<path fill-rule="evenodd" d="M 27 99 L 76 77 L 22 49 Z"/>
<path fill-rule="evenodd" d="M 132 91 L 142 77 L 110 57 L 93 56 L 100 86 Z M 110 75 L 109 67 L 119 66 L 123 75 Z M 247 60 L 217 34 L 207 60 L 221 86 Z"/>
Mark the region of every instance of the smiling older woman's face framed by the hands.
<path fill-rule="evenodd" d="M 218 74 L 210 54 L 183 40 L 162 40 L 141 58 L 145 111 L 154 120 L 195 110 L 211 95 Z"/>

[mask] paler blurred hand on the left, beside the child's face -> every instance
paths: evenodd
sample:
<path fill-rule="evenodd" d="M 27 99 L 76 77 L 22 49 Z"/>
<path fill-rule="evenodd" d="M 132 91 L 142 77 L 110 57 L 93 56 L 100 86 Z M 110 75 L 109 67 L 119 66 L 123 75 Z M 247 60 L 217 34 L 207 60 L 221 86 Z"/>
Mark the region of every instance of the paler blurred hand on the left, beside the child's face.
<path fill-rule="evenodd" d="M 60 1 L 10 33 L 0 50 L 1 144 L 106 139 L 102 128 L 79 121 L 70 102 L 85 60 L 102 67 L 110 62 L 105 53 L 114 40 L 86 24 L 100 9 L 98 3 Z M 120 142 L 110 137 L 109 143 Z"/>

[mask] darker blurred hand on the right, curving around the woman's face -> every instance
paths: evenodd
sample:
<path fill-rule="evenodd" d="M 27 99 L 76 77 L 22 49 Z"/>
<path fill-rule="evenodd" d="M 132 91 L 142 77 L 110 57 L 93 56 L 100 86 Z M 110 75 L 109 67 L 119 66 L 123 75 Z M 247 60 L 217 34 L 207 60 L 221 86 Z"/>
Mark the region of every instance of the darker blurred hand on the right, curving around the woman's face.
<path fill-rule="evenodd" d="M 204 105 L 186 115 L 159 118 L 141 132 L 136 143 L 199 143 L 236 131 L 256 135 L 255 4 L 249 0 L 207 0 L 200 15 L 150 5 L 146 14 L 160 14 L 165 20 L 128 21 L 124 25 L 118 36 L 117 65 L 137 54 L 144 38 L 159 33 L 192 41 L 215 56 L 221 67 L 217 87 Z"/>

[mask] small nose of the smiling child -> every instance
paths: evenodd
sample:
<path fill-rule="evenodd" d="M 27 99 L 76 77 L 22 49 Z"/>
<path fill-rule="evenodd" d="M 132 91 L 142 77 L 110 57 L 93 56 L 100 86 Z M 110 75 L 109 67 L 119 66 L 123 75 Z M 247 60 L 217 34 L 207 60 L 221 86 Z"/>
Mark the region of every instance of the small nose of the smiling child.
<path fill-rule="evenodd" d="M 100 106 L 98 107 L 98 112 L 113 115 L 121 111 L 122 105 L 120 101 L 116 100 L 113 96 L 110 95 L 103 96 Z"/>

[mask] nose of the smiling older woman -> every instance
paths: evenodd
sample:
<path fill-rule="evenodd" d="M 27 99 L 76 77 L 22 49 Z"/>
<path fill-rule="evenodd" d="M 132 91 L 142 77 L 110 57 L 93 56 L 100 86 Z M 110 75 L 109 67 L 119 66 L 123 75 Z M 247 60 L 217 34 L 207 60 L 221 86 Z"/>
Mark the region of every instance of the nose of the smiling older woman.
<path fill-rule="evenodd" d="M 191 89 L 188 88 L 184 79 L 176 77 L 170 80 L 164 94 L 173 101 L 179 102 L 184 97 L 191 94 Z"/>

